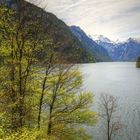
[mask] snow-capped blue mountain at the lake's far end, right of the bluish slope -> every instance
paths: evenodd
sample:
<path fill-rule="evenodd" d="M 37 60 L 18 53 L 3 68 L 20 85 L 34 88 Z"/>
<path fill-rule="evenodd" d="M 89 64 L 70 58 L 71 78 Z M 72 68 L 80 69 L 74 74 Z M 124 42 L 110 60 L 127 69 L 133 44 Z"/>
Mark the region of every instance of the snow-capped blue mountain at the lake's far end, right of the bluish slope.
<path fill-rule="evenodd" d="M 109 56 L 114 61 L 136 61 L 138 56 L 140 56 L 139 39 L 129 38 L 124 42 L 113 42 L 101 36 L 101 38 L 96 38 L 95 41 L 107 50 Z"/>

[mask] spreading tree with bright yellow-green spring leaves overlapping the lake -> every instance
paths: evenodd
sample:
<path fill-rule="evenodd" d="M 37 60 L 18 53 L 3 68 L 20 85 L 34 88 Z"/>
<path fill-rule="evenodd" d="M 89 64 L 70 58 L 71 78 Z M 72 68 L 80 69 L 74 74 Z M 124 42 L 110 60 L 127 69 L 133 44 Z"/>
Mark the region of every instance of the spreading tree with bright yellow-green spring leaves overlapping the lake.
<path fill-rule="evenodd" d="M 48 135 L 59 136 L 60 139 L 70 139 L 72 135 L 75 135 L 75 139 L 76 135 L 80 137 L 80 126 L 94 125 L 97 117 L 96 113 L 89 109 L 93 94 L 80 90 L 81 74 L 76 66 L 57 65 L 47 83 L 49 89 L 45 103 Z"/>

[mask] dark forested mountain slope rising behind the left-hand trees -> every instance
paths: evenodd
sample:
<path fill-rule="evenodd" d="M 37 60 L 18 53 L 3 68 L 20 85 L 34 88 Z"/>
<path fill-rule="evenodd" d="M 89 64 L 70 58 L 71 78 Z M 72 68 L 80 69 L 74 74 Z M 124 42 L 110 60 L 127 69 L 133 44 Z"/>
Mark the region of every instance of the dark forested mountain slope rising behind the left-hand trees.
<path fill-rule="evenodd" d="M 51 39 L 52 43 L 57 46 L 56 51 L 63 56 L 62 59 L 66 59 L 69 63 L 95 62 L 94 56 L 81 47 L 82 44 L 72 34 L 69 26 L 57 18 L 56 15 L 46 12 L 42 8 L 25 0 L 1 0 L 0 6 L 2 5 L 17 10 L 17 12 L 18 8 L 21 8 L 20 12 L 23 12 L 29 20 L 25 22 L 40 20 L 40 27 L 43 28 L 48 40 Z"/>

